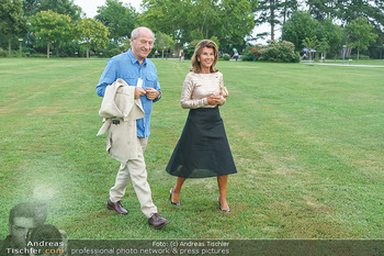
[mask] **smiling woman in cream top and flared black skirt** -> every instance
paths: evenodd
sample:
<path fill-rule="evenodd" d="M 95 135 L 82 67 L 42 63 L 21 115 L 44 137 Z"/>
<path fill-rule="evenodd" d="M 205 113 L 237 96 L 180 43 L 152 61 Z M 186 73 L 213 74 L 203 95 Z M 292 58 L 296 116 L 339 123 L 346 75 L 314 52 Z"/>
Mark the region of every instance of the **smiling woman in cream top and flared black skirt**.
<path fill-rule="evenodd" d="M 216 44 L 201 41 L 181 92 L 181 107 L 190 112 L 167 172 L 178 177 L 170 190 L 171 204 L 180 205 L 180 191 L 187 178 L 217 177 L 219 209 L 230 212 L 226 200 L 227 180 L 228 175 L 237 170 L 218 111 L 228 92 L 223 74 L 215 68 L 216 62 Z"/>

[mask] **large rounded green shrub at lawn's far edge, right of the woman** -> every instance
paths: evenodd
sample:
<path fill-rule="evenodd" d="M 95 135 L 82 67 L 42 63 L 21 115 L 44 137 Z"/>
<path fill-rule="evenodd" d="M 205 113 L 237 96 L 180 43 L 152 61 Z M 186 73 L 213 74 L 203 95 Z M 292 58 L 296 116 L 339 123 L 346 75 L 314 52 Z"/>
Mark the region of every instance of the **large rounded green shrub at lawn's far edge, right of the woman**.
<path fill-rule="evenodd" d="M 287 41 L 272 43 L 268 46 L 263 46 L 259 51 L 259 60 L 273 63 L 298 63 L 300 55 L 298 53 L 294 52 L 294 44 Z"/>

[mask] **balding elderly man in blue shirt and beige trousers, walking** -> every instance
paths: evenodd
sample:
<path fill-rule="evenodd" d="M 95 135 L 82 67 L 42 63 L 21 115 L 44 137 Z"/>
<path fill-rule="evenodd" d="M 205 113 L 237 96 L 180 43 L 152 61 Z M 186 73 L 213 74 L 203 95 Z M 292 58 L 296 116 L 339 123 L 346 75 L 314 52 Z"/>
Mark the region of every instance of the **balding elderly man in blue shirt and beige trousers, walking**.
<path fill-rule="evenodd" d="M 120 214 L 127 214 L 121 204 L 125 189 L 129 180 L 137 194 L 143 213 L 148 218 L 148 223 L 154 229 L 160 229 L 169 222 L 158 214 L 153 202 L 150 188 L 147 182 L 147 170 L 144 160 L 148 136 L 150 134 L 150 113 L 153 103 L 160 100 L 161 91 L 157 77 L 157 70 L 153 62 L 147 59 L 154 46 L 155 36 L 148 27 L 137 27 L 131 35 L 131 49 L 112 57 L 106 62 L 97 87 L 98 96 L 104 97 L 105 88 L 122 78 L 129 86 L 134 86 L 134 98 L 139 99 L 145 116 L 136 121 L 138 155 L 134 159 L 121 163 L 115 185 L 110 189 L 108 209 Z M 118 123 L 115 123 L 118 125 Z"/>

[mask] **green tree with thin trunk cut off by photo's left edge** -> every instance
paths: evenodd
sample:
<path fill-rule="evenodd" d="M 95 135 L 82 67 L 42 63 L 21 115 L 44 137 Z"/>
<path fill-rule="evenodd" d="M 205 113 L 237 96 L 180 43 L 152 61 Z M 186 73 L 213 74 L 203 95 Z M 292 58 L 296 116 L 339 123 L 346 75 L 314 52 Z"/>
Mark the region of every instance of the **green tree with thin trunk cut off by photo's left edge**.
<path fill-rule="evenodd" d="M 8 37 L 9 56 L 12 55 L 12 37 L 26 33 L 21 0 L 0 0 L 0 34 Z"/>

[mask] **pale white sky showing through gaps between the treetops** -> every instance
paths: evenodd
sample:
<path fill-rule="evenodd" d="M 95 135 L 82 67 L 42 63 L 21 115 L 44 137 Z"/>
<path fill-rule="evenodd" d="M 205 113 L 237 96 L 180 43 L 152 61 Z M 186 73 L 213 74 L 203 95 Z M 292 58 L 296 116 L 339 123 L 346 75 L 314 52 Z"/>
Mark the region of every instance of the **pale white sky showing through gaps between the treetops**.
<path fill-rule="evenodd" d="M 142 0 L 120 0 L 120 1 L 123 3 L 129 3 L 132 7 L 134 7 L 137 10 L 137 12 L 140 12 Z M 98 14 L 98 7 L 105 5 L 105 0 L 75 0 L 74 3 L 76 5 L 79 5 L 82 9 L 87 18 L 93 18 Z M 270 32 L 270 26 L 268 24 L 264 24 L 253 30 L 253 33 L 262 33 L 262 32 Z M 280 34 L 281 32 L 276 30 L 274 37 L 279 38 Z M 267 40 L 269 38 L 270 36 Z M 266 44 L 267 40 L 259 40 L 256 43 Z"/>

